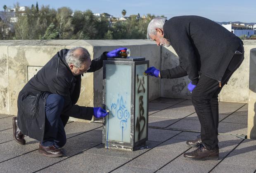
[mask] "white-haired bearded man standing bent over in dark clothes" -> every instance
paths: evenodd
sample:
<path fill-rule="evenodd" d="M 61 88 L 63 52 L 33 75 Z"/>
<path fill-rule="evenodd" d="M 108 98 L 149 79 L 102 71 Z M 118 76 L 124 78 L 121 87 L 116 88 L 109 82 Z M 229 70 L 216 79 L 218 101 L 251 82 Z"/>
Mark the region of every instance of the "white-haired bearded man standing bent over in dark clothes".
<path fill-rule="evenodd" d="M 200 16 L 158 17 L 150 21 L 147 37 L 156 44 L 172 46 L 180 64 L 171 69 L 148 68 L 154 77 L 188 75 L 187 88 L 201 124 L 201 137 L 187 141 L 198 147 L 186 159 L 218 159 L 218 94 L 244 60 L 242 40 L 218 23 Z"/>

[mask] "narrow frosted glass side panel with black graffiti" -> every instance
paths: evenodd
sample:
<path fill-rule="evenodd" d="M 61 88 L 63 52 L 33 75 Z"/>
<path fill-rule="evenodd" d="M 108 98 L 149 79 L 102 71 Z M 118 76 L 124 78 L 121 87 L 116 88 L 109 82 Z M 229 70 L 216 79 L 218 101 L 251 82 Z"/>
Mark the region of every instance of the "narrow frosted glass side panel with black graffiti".
<path fill-rule="evenodd" d="M 136 65 L 135 79 L 135 142 L 147 137 L 147 64 Z"/>

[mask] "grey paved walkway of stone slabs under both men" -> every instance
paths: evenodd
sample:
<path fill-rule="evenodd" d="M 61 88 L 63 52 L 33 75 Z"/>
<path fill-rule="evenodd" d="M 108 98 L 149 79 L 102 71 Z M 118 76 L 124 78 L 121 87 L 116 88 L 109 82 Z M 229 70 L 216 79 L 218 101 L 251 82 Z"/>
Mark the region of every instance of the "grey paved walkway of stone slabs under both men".
<path fill-rule="evenodd" d="M 191 161 L 183 153 L 192 151 L 186 140 L 199 135 L 199 120 L 190 100 L 159 98 L 149 103 L 148 148 L 134 152 L 105 149 L 102 124 L 69 122 L 65 131 L 64 157 L 38 153 L 38 142 L 26 138 L 19 145 L 12 138 L 12 117 L 0 115 L 0 172 L 12 173 L 255 173 L 256 140 L 247 134 L 244 103 L 219 103 L 219 147 L 217 161 Z M 239 136 L 237 138 L 236 136 Z"/>

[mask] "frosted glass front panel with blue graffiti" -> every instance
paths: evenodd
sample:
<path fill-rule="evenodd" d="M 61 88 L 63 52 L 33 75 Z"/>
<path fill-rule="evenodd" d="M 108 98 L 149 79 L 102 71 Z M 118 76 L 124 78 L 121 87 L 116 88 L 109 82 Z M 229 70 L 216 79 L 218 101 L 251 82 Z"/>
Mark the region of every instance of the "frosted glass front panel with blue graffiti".
<path fill-rule="evenodd" d="M 106 64 L 106 140 L 130 143 L 131 66 Z"/>

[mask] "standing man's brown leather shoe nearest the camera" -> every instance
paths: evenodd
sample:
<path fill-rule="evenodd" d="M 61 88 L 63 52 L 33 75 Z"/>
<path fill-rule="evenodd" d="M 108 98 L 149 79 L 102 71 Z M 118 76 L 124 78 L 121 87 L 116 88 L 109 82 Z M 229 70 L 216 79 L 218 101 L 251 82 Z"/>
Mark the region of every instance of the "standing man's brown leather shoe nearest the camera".
<path fill-rule="evenodd" d="M 219 150 L 208 150 L 201 144 L 197 150 L 184 153 L 184 157 L 190 160 L 218 160 Z"/>

